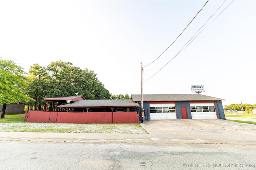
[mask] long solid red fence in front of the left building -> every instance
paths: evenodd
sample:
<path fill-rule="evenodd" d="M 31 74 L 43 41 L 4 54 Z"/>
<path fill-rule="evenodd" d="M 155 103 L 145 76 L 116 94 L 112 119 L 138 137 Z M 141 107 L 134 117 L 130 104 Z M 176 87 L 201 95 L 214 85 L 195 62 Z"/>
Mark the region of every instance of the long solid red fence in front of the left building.
<path fill-rule="evenodd" d="M 138 113 L 26 111 L 24 121 L 50 123 L 139 123 Z"/>

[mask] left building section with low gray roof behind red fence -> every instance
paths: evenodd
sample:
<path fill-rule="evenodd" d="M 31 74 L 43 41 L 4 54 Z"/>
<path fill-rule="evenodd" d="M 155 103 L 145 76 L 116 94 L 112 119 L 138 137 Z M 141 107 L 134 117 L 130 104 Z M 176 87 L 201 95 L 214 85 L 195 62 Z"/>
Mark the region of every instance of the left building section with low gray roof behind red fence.
<path fill-rule="evenodd" d="M 24 121 L 52 123 L 139 123 L 139 105 L 132 100 L 100 100 L 100 97 L 98 100 L 85 100 L 82 96 L 47 98 L 45 100 L 47 101 L 47 111 L 29 110 L 24 116 Z M 62 105 L 58 105 L 57 109 L 51 107 L 56 106 L 56 103 Z M 48 106 L 50 107 L 48 108 Z"/>

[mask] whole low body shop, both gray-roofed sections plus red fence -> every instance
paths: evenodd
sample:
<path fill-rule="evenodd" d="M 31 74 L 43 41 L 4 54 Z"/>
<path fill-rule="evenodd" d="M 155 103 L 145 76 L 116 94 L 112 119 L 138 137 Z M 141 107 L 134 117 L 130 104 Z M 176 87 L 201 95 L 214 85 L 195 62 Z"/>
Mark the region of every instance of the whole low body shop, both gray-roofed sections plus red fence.
<path fill-rule="evenodd" d="M 139 123 L 152 119 L 225 119 L 222 100 L 201 94 L 132 95 L 130 100 L 47 98 L 46 111 L 28 111 L 24 121 L 56 123 Z M 56 106 L 57 109 L 48 109 Z M 50 107 L 54 108 L 54 107 Z M 144 114 L 143 114 L 144 113 Z"/>

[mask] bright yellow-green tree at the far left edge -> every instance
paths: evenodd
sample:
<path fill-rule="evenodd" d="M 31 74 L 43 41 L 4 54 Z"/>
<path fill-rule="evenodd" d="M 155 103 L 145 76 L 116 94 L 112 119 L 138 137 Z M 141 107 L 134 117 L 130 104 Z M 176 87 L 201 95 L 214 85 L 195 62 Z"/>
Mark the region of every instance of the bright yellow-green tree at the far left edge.
<path fill-rule="evenodd" d="M 28 82 L 22 69 L 13 61 L 0 58 L 0 105 L 3 105 L 1 118 L 4 118 L 7 104 L 33 101 L 23 93 Z"/>

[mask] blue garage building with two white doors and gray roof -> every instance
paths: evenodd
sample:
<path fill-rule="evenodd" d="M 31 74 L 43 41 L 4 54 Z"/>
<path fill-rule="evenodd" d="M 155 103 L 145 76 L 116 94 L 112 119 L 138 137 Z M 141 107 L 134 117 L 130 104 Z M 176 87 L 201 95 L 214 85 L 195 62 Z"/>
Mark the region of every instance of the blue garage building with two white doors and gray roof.
<path fill-rule="evenodd" d="M 141 103 L 141 95 L 131 96 Z M 144 94 L 144 120 L 151 119 L 226 119 L 222 100 L 202 94 Z"/>

